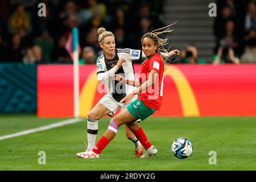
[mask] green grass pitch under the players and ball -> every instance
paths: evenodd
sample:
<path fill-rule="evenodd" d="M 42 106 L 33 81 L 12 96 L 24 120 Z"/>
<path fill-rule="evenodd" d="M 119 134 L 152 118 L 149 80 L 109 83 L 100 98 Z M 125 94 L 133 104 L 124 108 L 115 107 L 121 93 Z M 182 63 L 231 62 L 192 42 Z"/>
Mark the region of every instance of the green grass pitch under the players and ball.
<path fill-rule="evenodd" d="M 0 115 L 0 135 L 49 125 L 64 118 L 35 115 Z M 109 125 L 99 122 L 98 138 Z M 122 126 L 100 159 L 77 159 L 85 150 L 86 122 L 0 140 L 0 170 L 256 170 L 255 117 L 148 118 L 141 122 L 148 139 L 159 154 L 140 159 Z M 193 143 L 193 154 L 177 159 L 172 142 L 185 137 Z M 38 164 L 38 152 L 46 152 L 46 165 Z M 217 164 L 210 165 L 209 151 L 216 151 Z"/>

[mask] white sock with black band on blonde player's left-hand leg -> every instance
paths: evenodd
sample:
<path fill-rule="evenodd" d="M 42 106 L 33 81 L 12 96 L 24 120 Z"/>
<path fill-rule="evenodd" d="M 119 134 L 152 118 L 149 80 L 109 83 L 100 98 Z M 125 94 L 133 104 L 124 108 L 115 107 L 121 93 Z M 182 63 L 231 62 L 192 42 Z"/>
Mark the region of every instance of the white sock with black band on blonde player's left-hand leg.
<path fill-rule="evenodd" d="M 95 146 L 96 137 L 98 133 L 98 119 L 87 118 L 87 150 L 92 150 Z"/>

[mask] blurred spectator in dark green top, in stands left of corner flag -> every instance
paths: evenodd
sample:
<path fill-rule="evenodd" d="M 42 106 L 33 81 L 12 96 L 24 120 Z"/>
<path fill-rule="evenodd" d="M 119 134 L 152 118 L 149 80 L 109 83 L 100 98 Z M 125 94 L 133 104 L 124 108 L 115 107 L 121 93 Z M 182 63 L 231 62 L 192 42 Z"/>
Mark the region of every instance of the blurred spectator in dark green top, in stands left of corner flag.
<path fill-rule="evenodd" d="M 40 46 L 44 61 L 49 63 L 51 61 L 51 52 L 54 46 L 54 40 L 49 36 L 48 32 L 44 31 L 40 37 L 34 40 L 34 44 Z"/>

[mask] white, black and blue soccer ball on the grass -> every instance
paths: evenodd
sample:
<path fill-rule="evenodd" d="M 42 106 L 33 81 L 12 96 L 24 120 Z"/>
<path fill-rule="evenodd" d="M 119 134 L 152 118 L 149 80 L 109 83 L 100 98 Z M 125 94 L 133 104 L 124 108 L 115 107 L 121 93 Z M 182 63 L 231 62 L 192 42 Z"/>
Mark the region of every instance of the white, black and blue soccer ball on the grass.
<path fill-rule="evenodd" d="M 193 151 L 193 145 L 187 138 L 178 138 L 172 143 L 172 153 L 176 158 L 188 158 Z"/>

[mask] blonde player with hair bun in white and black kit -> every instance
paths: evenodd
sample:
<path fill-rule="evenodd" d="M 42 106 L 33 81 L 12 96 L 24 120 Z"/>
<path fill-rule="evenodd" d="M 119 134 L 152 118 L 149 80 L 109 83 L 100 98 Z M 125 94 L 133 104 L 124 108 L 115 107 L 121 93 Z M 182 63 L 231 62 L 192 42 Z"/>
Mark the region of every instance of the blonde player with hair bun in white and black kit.
<path fill-rule="evenodd" d="M 97 60 L 97 78 L 98 81 L 104 82 L 106 91 L 104 97 L 89 111 L 87 116 L 87 138 L 88 148 L 86 151 L 92 150 L 95 146 L 96 136 L 98 133 L 98 121 L 106 114 L 114 114 L 121 107 L 124 109 L 130 102 L 137 99 L 137 95 L 127 104 L 120 103 L 126 93 L 131 93 L 136 88 L 131 85 L 123 84 L 112 79 L 114 74 L 119 74 L 127 80 L 137 80 L 135 77 L 132 60 L 139 60 L 141 57 L 146 57 L 140 50 L 134 49 L 116 49 L 114 35 L 105 28 L 98 28 L 98 42 L 104 53 Z M 167 57 L 167 53 L 161 53 Z M 110 116 L 112 116 L 110 115 Z M 126 126 L 126 136 L 134 143 L 135 155 L 143 155 L 143 147 L 133 132 Z M 83 154 L 84 152 L 77 153 Z M 77 155 L 79 156 L 79 155 Z M 82 157 L 82 156 L 79 156 Z"/>

